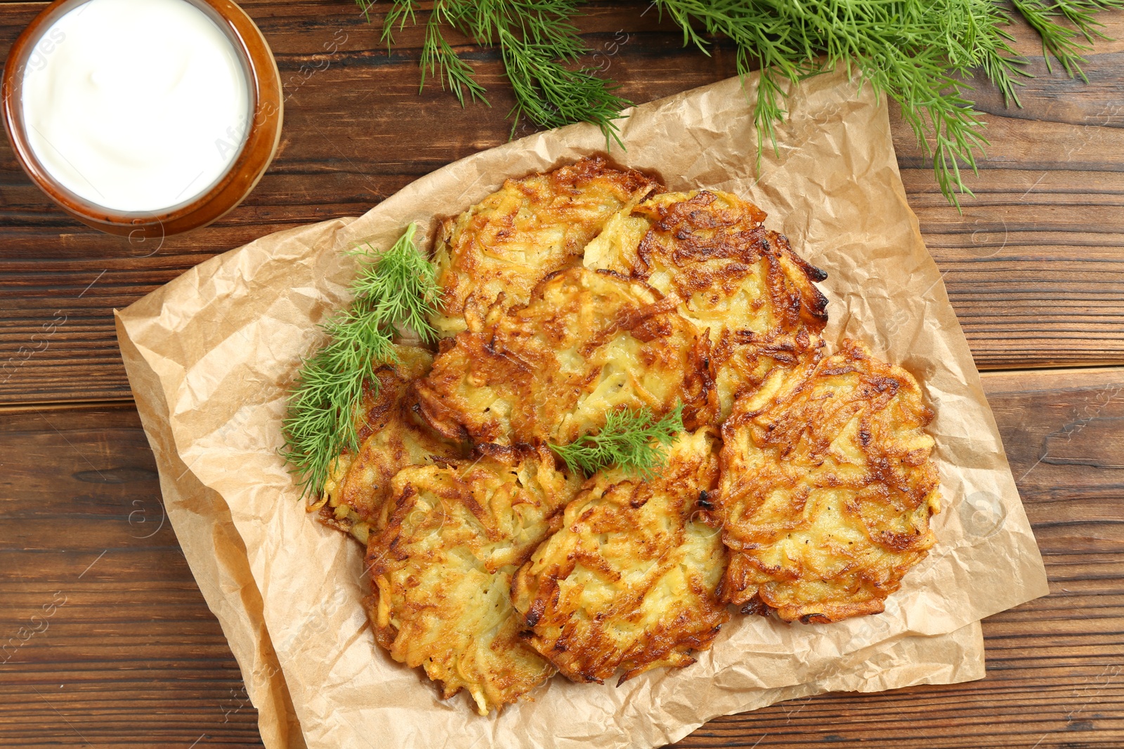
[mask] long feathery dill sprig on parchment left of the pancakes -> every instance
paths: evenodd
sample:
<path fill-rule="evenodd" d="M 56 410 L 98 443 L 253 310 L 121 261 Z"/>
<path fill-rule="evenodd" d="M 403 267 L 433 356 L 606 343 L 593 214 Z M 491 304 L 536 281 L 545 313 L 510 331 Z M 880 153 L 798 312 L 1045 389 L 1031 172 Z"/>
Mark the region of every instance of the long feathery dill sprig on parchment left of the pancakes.
<path fill-rule="evenodd" d="M 319 492 L 336 457 L 359 447 L 355 412 L 363 383 L 378 392 L 371 374 L 398 360 L 393 337 L 409 329 L 424 341 L 436 339 L 428 322 L 437 304 L 436 270 L 415 247 L 416 231 L 411 223 L 384 253 L 370 245 L 351 250 L 359 258 L 354 299 L 324 323 L 328 341 L 301 363 L 282 422 L 281 455 L 300 476 L 303 494 Z"/>

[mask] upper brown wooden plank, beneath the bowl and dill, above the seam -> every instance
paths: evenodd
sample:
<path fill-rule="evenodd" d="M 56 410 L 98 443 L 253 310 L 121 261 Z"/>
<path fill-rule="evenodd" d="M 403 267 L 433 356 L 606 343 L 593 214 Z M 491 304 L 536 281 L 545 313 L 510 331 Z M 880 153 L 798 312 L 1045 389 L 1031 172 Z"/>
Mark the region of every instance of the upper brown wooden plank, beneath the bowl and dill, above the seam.
<path fill-rule="evenodd" d="M 44 7 L 0 3 L 0 53 Z M 133 241 L 87 229 L 49 203 L 0 144 L 0 403 L 127 399 L 111 309 L 270 231 L 355 216 L 413 180 L 507 140 L 511 97 L 493 52 L 464 48 L 491 108 L 461 110 L 439 88 L 417 94 L 420 37 L 392 54 L 350 0 L 246 0 L 285 83 L 278 157 L 248 200 L 212 227 Z M 600 0 L 581 29 L 622 93 L 643 102 L 733 75 L 647 4 Z M 1124 13 L 1106 13 L 1124 37 Z M 378 19 L 377 19 L 378 20 Z M 1036 45 L 1019 29 L 1019 47 Z M 344 42 L 339 43 L 339 39 Z M 338 45 L 338 52 L 326 48 Z M 1044 70 L 1023 109 L 980 90 L 992 145 L 961 216 L 895 127 L 903 179 L 981 367 L 1124 362 L 1124 74 L 1121 43 L 1089 57 L 1089 85 Z M 531 133 L 520 129 L 517 135 Z"/>

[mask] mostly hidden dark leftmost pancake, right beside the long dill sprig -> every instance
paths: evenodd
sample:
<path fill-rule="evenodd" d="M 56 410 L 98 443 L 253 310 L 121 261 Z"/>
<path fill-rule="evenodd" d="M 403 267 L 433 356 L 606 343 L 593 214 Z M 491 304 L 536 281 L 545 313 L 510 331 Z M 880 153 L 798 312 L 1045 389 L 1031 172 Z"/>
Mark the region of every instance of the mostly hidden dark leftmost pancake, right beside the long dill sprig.
<path fill-rule="evenodd" d="M 416 346 L 395 346 L 395 353 L 396 364 L 374 371 L 378 389 L 371 381 L 364 383 L 356 423 L 360 448 L 336 458 L 317 505 L 323 522 L 364 546 L 395 474 L 406 466 L 464 455 L 460 445 L 442 439 L 414 411 L 417 400 L 410 383 L 429 372 L 433 354 Z"/>

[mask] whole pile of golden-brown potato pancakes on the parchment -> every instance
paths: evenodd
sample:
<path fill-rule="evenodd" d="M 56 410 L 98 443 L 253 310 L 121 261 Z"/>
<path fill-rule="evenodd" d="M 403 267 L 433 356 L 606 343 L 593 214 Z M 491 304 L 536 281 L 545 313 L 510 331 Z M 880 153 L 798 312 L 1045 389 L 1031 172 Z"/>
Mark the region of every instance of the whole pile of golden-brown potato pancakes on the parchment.
<path fill-rule="evenodd" d="M 861 342 L 825 350 L 825 275 L 764 218 L 583 158 L 444 222 L 439 348 L 373 373 L 317 505 L 365 544 L 396 660 L 487 714 L 556 670 L 687 666 L 729 606 L 883 610 L 934 542 L 933 414 Z M 650 479 L 547 447 L 680 404 Z"/>

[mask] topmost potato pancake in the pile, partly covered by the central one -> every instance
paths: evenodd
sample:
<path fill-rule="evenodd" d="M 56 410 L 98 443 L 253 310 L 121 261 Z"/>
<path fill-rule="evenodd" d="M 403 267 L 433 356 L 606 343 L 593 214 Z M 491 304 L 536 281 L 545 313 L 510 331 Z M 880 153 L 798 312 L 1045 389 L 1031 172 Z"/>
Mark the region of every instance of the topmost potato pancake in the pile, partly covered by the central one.
<path fill-rule="evenodd" d="M 599 157 L 507 180 L 438 230 L 434 263 L 443 311 L 434 327 L 451 336 L 497 300 L 505 308 L 525 304 L 540 281 L 581 256 L 609 218 L 659 188 L 652 177 Z"/>

